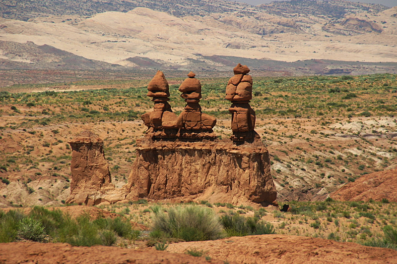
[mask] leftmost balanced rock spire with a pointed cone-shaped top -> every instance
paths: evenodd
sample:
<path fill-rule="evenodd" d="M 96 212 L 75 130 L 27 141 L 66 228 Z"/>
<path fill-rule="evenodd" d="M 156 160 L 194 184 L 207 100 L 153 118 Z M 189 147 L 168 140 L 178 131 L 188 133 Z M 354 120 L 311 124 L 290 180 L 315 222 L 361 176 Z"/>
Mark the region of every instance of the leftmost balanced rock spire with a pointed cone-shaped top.
<path fill-rule="evenodd" d="M 147 96 L 154 102 L 154 111 L 142 114 L 141 118 L 154 139 L 175 138 L 178 133 L 177 115 L 172 112 L 169 101 L 169 86 L 163 72 L 157 71 L 147 85 Z"/>

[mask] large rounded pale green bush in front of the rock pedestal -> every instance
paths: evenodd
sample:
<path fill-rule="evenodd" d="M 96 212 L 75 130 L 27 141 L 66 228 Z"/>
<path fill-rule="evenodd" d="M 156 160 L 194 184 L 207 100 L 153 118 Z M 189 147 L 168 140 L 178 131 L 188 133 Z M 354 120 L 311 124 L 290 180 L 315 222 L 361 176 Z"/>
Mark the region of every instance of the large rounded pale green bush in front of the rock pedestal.
<path fill-rule="evenodd" d="M 175 207 L 168 209 L 168 214 L 153 214 L 152 232 L 185 241 L 213 240 L 222 237 L 222 226 L 209 208 Z"/>

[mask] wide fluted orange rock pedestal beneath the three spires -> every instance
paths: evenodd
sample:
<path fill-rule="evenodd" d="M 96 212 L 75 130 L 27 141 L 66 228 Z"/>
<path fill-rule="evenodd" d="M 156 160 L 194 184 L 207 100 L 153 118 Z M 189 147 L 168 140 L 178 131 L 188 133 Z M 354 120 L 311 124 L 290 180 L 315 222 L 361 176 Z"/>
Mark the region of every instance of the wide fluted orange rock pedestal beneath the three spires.
<path fill-rule="evenodd" d="M 140 142 L 126 186 L 128 200 L 199 198 L 210 202 L 272 203 L 269 154 L 259 140 Z"/>

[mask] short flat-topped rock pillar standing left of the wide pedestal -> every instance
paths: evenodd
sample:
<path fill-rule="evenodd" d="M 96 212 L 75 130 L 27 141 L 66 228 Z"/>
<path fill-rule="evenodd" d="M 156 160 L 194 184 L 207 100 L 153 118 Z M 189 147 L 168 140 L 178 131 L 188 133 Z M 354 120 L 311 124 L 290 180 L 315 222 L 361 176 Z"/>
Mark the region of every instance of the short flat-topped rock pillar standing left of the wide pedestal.
<path fill-rule="evenodd" d="M 114 188 L 103 152 L 103 140 L 91 131 L 84 131 L 68 143 L 72 155 L 70 196 L 66 203 L 100 203 L 106 190 Z"/>

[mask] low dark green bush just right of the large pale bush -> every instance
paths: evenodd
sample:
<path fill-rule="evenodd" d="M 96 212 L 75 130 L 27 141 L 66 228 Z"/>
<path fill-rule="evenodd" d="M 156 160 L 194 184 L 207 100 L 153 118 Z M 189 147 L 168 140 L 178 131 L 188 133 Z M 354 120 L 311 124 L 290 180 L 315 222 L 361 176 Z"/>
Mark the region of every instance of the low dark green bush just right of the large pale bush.
<path fill-rule="evenodd" d="M 244 217 L 239 214 L 222 215 L 221 223 L 229 236 L 274 234 L 274 227 L 258 217 Z"/>

